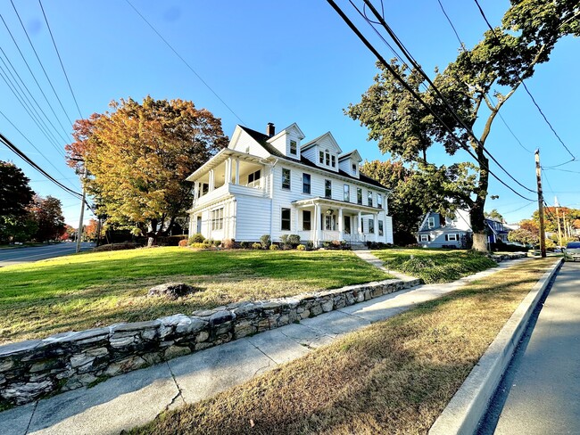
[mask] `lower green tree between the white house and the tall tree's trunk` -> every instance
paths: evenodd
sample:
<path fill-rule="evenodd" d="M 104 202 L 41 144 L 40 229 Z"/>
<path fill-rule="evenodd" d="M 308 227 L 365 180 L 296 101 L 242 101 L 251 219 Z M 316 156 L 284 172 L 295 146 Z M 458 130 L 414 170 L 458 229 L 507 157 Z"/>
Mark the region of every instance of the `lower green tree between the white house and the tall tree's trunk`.
<path fill-rule="evenodd" d="M 420 218 L 429 210 L 444 216 L 465 204 L 451 198 L 468 197 L 475 176 L 469 165 L 437 168 L 435 165 L 403 165 L 401 161 L 365 161 L 360 172 L 391 189 L 389 215 L 393 217 L 394 242 L 406 245 L 417 242 Z M 460 192 L 462 190 L 463 192 Z"/>

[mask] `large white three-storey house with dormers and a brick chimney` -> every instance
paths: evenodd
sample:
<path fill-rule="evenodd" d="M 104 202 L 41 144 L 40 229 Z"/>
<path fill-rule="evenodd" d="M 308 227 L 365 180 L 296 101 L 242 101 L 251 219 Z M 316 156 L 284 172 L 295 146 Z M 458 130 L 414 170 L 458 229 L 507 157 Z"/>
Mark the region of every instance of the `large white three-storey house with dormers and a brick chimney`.
<path fill-rule="evenodd" d="M 393 242 L 385 186 L 359 172 L 330 132 L 302 144 L 295 123 L 264 135 L 236 126 L 228 148 L 186 179 L 195 184 L 189 234 L 257 242 L 270 234 L 302 241 Z"/>

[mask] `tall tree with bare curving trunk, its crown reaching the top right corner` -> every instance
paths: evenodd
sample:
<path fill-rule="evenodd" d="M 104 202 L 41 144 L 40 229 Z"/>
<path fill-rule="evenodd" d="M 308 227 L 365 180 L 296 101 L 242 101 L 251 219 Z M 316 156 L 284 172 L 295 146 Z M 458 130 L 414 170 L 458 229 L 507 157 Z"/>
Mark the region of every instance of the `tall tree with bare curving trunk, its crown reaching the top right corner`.
<path fill-rule="evenodd" d="M 420 94 L 443 123 L 459 137 L 459 144 L 443 124 L 402 88 L 400 83 L 377 64 L 375 83 L 351 104 L 346 113 L 369 128 L 369 140 L 376 140 L 382 152 L 405 161 L 427 162 L 427 151 L 434 144 L 454 155 L 461 148 L 476 155 L 477 183 L 467 202 L 474 231 L 474 248 L 486 250 L 485 200 L 489 186 L 489 161 L 483 146 L 493 120 L 520 86 L 520 78 L 532 77 L 537 65 L 547 62 L 559 38 L 580 33 L 577 2 L 564 0 L 511 0 L 501 26 L 485 32 L 481 42 L 464 50 L 443 72 L 435 70 L 435 86 L 469 129 L 479 130 L 476 139 L 454 119 L 445 104 L 417 70 L 391 64 Z M 498 42 L 499 39 L 499 42 Z M 489 94 L 493 93 L 495 101 Z M 476 119 L 480 122 L 476 125 Z"/>

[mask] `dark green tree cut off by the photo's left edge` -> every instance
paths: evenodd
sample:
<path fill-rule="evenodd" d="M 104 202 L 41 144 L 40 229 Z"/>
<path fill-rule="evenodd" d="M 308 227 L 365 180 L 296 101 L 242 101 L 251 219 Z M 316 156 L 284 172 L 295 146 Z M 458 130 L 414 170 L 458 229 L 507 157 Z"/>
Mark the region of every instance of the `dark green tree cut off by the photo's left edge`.
<path fill-rule="evenodd" d="M 21 168 L 0 160 L 0 243 L 26 241 L 34 233 L 28 218 L 34 196 L 29 181 Z"/>

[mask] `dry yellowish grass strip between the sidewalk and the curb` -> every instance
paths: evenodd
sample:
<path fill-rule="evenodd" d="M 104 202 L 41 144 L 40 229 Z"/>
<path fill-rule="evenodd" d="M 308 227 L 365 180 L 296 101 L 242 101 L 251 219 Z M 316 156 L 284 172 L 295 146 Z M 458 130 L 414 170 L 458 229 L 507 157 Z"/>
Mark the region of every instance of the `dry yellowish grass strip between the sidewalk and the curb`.
<path fill-rule="evenodd" d="M 131 433 L 427 433 L 553 263 L 502 270 Z"/>

